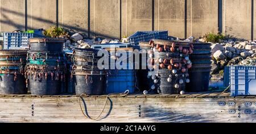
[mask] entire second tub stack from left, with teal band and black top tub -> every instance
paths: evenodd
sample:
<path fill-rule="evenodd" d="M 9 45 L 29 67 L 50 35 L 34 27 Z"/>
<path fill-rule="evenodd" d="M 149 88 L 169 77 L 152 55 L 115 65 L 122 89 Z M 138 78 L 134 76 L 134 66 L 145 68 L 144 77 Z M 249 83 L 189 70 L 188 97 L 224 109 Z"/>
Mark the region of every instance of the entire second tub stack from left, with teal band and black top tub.
<path fill-rule="evenodd" d="M 30 39 L 25 77 L 31 94 L 60 94 L 67 72 L 64 41 L 55 38 Z"/>

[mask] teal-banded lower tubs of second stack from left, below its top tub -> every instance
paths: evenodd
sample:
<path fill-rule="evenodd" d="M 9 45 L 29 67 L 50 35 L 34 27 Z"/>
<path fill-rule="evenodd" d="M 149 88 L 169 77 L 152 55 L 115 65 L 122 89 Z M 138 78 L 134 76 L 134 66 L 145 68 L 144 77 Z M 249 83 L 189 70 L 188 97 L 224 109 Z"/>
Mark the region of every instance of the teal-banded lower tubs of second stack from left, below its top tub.
<path fill-rule="evenodd" d="M 67 56 L 63 52 L 28 51 L 26 78 L 33 95 L 65 93 Z"/>

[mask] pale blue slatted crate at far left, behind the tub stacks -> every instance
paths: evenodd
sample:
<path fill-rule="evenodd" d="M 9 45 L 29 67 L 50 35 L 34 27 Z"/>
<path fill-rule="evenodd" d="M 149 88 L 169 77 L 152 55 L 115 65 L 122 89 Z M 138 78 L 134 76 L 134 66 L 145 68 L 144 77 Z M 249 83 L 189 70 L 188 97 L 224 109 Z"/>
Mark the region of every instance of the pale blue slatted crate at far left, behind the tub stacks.
<path fill-rule="evenodd" d="M 23 32 L 4 32 L 3 49 L 19 49 L 21 46 L 28 45 L 28 39 L 32 37 L 44 37 L 36 33 Z"/>

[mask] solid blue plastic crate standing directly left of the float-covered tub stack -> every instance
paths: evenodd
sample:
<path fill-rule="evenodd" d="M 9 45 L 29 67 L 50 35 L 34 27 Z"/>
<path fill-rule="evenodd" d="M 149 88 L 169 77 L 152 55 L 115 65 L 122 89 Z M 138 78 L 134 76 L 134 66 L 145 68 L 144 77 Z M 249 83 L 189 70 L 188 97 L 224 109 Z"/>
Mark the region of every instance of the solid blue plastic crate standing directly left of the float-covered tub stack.
<path fill-rule="evenodd" d="M 134 93 L 135 70 L 110 70 L 108 77 L 107 93 Z"/>

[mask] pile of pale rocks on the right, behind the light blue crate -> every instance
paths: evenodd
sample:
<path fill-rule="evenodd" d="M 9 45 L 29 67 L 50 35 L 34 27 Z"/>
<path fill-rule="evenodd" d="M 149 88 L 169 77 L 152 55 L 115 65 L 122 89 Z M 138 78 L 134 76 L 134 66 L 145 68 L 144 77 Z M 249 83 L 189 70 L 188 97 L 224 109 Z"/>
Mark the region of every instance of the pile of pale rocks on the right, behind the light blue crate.
<path fill-rule="evenodd" d="M 227 65 L 238 65 L 246 59 L 256 57 L 255 41 L 223 41 L 223 43 L 212 44 L 212 72 L 211 75 L 223 76 L 223 69 Z"/>

